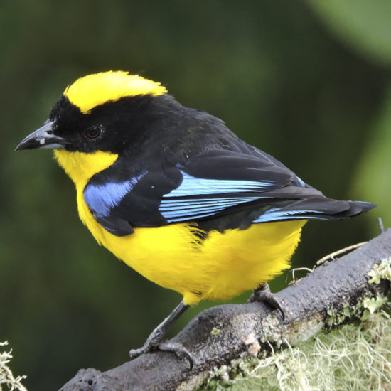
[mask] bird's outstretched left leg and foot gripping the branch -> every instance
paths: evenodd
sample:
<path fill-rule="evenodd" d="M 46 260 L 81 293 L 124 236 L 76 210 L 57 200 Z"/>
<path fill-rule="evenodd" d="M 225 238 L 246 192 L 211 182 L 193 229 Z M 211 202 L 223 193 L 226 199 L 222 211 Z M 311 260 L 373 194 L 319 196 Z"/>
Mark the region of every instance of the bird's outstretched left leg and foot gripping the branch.
<path fill-rule="evenodd" d="M 149 334 L 149 337 L 146 338 L 144 346 L 139 349 L 130 350 L 130 359 L 133 360 L 134 358 L 139 357 L 139 355 L 149 353 L 151 350 L 164 350 L 165 352 L 175 353 L 178 358 L 188 358 L 190 367 L 193 368 L 193 358 L 191 353 L 189 353 L 181 343 L 167 341 L 164 339 L 167 331 L 171 328 L 179 316 L 181 316 L 183 312 L 188 309 L 188 307 L 189 306 L 181 301 L 181 303 L 176 306 L 171 314 L 168 315 L 167 318 L 165 318 L 164 321 L 162 321 L 159 326 L 157 326 L 154 331 L 151 332 L 151 334 Z"/>

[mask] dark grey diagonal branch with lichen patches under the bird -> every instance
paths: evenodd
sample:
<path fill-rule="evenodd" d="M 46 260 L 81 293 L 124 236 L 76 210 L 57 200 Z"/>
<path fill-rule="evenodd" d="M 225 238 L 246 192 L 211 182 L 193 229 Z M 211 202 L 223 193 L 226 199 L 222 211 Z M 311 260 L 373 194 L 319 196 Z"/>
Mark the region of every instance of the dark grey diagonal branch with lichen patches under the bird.
<path fill-rule="evenodd" d="M 106 372 L 80 370 L 61 390 L 196 389 L 221 365 L 235 370 L 238 360 L 265 356 L 319 331 L 363 320 L 385 304 L 390 280 L 391 230 L 387 230 L 280 291 L 284 322 L 278 311 L 258 303 L 215 306 L 196 316 L 173 338 L 195 358 L 193 370 L 186 360 L 158 351 Z"/>

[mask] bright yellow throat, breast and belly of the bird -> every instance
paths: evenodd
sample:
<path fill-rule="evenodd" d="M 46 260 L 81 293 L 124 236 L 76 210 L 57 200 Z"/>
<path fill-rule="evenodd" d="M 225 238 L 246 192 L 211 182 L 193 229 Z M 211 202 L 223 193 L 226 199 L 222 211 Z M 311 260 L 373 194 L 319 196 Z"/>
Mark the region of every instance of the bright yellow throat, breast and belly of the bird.
<path fill-rule="evenodd" d="M 117 237 L 96 222 L 83 198 L 87 181 L 113 164 L 117 155 L 58 150 L 55 157 L 75 183 L 80 219 L 97 242 L 147 279 L 181 293 L 185 304 L 230 299 L 289 268 L 306 223 L 294 220 L 211 231 L 205 240 L 194 235 L 195 224 L 185 223 L 136 228 L 132 235 Z"/>

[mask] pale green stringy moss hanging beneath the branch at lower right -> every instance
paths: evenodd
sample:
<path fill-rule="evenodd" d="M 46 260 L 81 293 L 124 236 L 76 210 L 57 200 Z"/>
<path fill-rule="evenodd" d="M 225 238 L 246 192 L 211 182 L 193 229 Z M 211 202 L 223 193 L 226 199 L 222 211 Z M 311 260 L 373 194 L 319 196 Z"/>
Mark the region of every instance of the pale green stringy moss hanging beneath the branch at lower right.
<path fill-rule="evenodd" d="M 234 371 L 220 368 L 201 390 L 391 390 L 390 347 L 391 318 L 380 311 Z"/>

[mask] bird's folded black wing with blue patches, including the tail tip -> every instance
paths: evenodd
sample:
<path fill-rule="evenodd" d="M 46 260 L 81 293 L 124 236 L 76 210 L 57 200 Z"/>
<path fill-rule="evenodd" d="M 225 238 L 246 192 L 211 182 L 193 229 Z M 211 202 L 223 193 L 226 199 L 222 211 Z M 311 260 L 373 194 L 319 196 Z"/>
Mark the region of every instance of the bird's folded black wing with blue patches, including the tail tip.
<path fill-rule="evenodd" d="M 333 220 L 375 206 L 326 198 L 251 146 L 246 153 L 211 149 L 188 164 L 136 172 L 119 159 L 91 179 L 84 196 L 97 222 L 117 236 L 129 235 L 134 227 L 183 222 L 225 230 L 272 221 Z"/>

